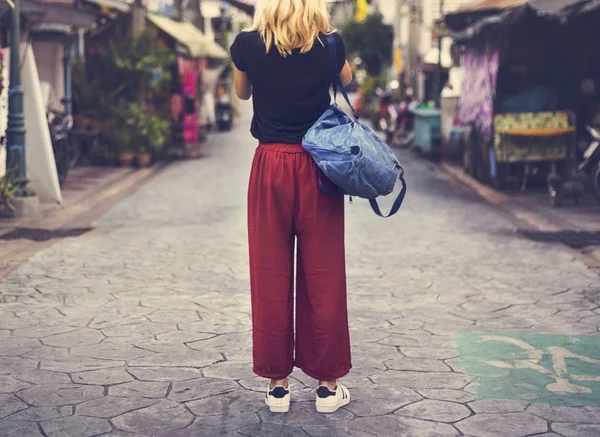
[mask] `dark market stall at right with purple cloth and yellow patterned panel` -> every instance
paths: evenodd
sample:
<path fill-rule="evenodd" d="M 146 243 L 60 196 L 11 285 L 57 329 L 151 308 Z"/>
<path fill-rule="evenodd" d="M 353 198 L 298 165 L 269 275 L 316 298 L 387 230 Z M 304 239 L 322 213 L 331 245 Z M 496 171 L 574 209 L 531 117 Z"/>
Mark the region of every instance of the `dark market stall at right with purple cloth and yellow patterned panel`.
<path fill-rule="evenodd" d="M 499 188 L 568 179 L 578 114 L 565 98 L 570 69 L 560 53 L 575 1 L 522 1 L 508 10 L 483 3 L 445 18 L 464 48 L 458 117 L 470 131 L 465 168 Z"/>

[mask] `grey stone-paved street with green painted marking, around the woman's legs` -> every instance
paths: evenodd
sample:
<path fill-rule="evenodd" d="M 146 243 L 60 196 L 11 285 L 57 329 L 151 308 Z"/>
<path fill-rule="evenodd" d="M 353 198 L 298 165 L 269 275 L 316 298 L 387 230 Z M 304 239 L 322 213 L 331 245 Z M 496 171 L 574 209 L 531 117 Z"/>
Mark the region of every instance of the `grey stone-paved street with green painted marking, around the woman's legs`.
<path fill-rule="evenodd" d="M 600 279 L 408 152 L 398 216 L 347 206 L 353 401 L 318 415 L 295 372 L 291 412 L 269 413 L 243 112 L 207 157 L 0 279 L 1 437 L 600 435 Z"/>

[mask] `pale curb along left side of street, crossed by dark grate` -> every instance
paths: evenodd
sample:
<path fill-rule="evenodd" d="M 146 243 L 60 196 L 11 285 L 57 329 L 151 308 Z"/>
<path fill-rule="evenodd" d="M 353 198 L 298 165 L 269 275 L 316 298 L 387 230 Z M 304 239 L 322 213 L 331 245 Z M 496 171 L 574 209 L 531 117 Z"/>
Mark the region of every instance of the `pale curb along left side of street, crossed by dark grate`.
<path fill-rule="evenodd" d="M 35 227 L 48 230 L 83 228 L 104 212 L 109 210 L 118 201 L 133 194 L 151 178 L 157 176 L 170 164 L 160 163 L 149 168 L 135 170 L 124 177 L 109 183 L 92 195 L 83 198 L 64 208 L 52 210 L 47 216 L 33 220 L 15 220 L 15 227 Z M 10 232 L 12 228 L 3 229 L 0 234 Z M 92 230 L 89 234 L 102 232 L 102 229 Z M 38 251 L 51 246 L 59 240 L 43 242 L 30 240 L 3 241 L 0 250 L 0 279 L 18 267 Z"/>

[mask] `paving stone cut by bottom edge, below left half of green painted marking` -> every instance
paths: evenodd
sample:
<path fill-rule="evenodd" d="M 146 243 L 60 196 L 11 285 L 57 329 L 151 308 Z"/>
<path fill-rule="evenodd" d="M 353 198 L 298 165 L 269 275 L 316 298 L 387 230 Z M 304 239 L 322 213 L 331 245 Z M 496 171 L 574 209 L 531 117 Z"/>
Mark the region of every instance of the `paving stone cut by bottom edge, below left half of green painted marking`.
<path fill-rule="evenodd" d="M 548 423 L 529 413 L 477 414 L 456 427 L 475 437 L 523 437 L 548 431 Z"/>

